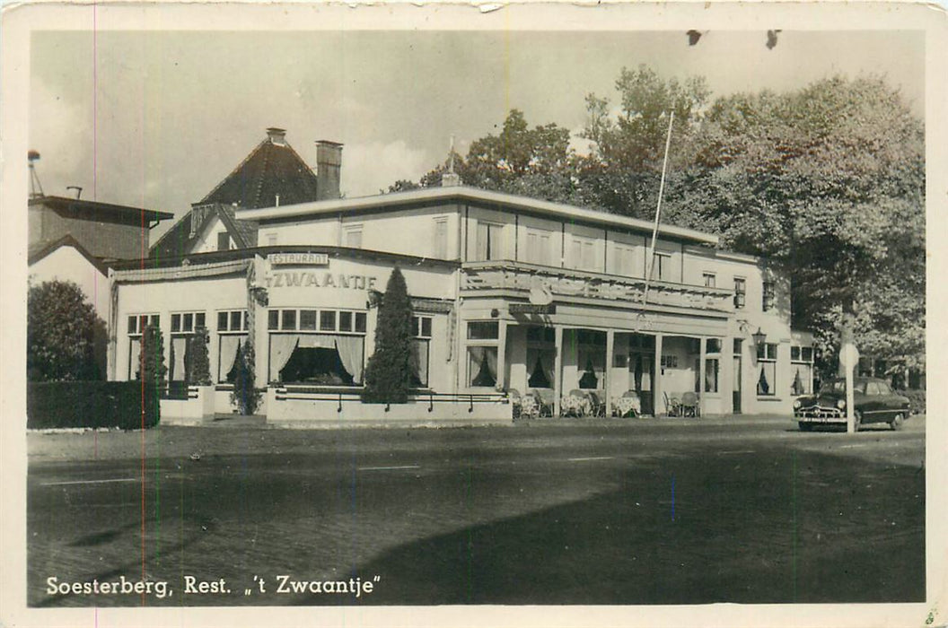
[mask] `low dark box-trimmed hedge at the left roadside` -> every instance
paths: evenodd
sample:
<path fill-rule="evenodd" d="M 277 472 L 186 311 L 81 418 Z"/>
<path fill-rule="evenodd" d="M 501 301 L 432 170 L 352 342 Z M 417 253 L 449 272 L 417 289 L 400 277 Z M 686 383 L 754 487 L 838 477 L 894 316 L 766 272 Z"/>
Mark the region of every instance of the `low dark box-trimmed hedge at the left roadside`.
<path fill-rule="evenodd" d="M 27 382 L 27 428 L 118 427 L 140 429 L 158 422 L 154 390 L 141 382 Z"/>

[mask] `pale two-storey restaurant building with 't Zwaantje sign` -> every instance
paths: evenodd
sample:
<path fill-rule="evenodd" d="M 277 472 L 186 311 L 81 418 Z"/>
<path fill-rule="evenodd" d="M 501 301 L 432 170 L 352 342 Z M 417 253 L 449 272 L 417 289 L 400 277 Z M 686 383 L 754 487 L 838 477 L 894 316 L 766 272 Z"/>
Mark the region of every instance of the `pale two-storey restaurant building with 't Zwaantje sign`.
<path fill-rule="evenodd" d="M 223 393 L 251 342 L 268 418 L 356 418 L 367 412 L 357 393 L 377 303 L 397 266 L 414 310 L 414 398 L 429 410 L 467 404 L 473 418 L 475 399 L 540 389 L 556 414 L 573 390 L 597 391 L 609 412 L 633 390 L 645 414 L 690 392 L 702 415 L 790 415 L 794 396 L 811 392 L 811 334 L 793 331 L 789 280 L 775 264 L 663 224 L 647 283 L 649 222 L 445 178 L 440 188 L 238 207 L 237 219 L 257 225 L 256 246 L 195 246 L 208 252 L 119 267 L 110 376 L 136 377 L 151 322 L 169 378 L 182 380 L 187 338 L 206 327 L 217 411 L 228 411 Z"/>

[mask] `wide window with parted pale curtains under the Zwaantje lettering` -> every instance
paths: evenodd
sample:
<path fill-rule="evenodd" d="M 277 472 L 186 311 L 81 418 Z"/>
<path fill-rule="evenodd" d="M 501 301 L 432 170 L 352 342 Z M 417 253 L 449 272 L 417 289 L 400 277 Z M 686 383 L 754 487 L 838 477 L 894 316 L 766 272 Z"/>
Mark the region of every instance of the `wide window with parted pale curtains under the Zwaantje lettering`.
<path fill-rule="evenodd" d="M 269 381 L 323 386 L 362 384 L 365 336 L 271 333 Z"/>

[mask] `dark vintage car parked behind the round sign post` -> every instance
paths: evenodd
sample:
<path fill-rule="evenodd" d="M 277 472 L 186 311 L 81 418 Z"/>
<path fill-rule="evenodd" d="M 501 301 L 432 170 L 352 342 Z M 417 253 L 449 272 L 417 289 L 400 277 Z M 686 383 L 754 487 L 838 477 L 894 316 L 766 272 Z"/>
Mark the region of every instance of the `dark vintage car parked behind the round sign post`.
<path fill-rule="evenodd" d="M 908 398 L 893 392 L 885 380 L 855 378 L 852 400 L 857 431 L 866 423 L 888 423 L 897 430 L 910 416 Z M 817 394 L 796 399 L 793 417 L 805 432 L 813 425 L 846 425 L 846 379 L 831 380 Z"/>

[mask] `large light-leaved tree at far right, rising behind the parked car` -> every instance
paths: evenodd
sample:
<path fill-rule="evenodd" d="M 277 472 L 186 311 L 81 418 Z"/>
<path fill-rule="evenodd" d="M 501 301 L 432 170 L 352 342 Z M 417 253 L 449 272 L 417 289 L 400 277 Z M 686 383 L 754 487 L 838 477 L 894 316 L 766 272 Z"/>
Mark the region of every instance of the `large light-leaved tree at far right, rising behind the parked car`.
<path fill-rule="evenodd" d="M 782 262 L 794 326 L 830 360 L 852 313 L 865 355 L 923 368 L 924 129 L 898 90 L 836 77 L 722 98 L 693 146 L 674 220 Z"/>

